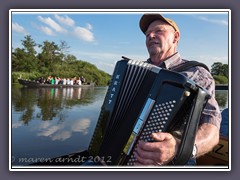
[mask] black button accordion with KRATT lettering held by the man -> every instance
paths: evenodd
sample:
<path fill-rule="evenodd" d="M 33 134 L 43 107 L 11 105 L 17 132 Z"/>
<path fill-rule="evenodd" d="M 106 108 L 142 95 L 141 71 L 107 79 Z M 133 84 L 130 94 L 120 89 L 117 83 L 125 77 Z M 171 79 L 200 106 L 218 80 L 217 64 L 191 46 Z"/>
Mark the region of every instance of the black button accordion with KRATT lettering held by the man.
<path fill-rule="evenodd" d="M 186 76 L 142 61 L 117 62 L 88 151 L 105 165 L 134 165 L 139 140 L 153 132 L 178 132 L 174 164 L 191 156 L 208 92 Z M 107 160 L 109 158 L 109 160 Z"/>

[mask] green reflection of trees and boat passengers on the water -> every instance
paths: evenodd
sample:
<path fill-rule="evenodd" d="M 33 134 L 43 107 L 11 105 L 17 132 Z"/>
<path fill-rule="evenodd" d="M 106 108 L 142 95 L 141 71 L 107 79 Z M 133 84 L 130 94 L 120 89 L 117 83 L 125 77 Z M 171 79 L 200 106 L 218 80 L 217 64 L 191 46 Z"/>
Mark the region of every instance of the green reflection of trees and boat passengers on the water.
<path fill-rule="evenodd" d="M 90 98 L 91 91 L 93 90 L 82 88 L 21 88 L 19 92 L 13 92 L 12 103 L 16 112 L 22 112 L 20 120 L 24 124 L 34 118 L 43 121 L 58 118 L 59 121 L 64 121 L 64 108 L 94 101 Z"/>

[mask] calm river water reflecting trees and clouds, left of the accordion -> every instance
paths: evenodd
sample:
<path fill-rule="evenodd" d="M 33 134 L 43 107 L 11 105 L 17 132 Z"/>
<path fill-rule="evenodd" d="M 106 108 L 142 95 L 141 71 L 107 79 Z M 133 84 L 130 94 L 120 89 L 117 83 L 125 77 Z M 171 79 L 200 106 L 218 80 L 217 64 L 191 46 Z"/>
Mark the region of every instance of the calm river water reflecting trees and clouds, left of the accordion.
<path fill-rule="evenodd" d="M 12 165 L 87 149 L 106 88 L 12 88 Z"/>

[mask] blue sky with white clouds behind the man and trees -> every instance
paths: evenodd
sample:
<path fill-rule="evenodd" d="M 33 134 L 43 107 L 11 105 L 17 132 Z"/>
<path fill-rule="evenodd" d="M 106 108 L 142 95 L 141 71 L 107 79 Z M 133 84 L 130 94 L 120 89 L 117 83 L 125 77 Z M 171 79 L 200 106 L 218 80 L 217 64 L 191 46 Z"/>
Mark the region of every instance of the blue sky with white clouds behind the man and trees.
<path fill-rule="evenodd" d="M 203 62 L 209 68 L 214 62 L 230 63 L 231 12 L 227 9 L 12 9 L 9 12 L 9 49 L 22 48 L 26 35 L 31 35 L 37 44 L 47 40 L 60 45 L 65 41 L 70 47 L 69 54 L 109 74 L 122 56 L 140 61 L 149 57 L 145 35 L 139 28 L 139 20 L 146 12 L 161 13 L 177 23 L 178 52 L 183 59 Z"/>

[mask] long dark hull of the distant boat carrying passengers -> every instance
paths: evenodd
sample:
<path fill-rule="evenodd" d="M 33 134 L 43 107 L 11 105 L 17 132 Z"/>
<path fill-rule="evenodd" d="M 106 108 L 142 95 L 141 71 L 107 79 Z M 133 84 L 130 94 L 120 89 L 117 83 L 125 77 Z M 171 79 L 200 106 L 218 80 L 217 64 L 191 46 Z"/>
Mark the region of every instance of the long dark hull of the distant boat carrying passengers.
<path fill-rule="evenodd" d="M 26 79 L 18 79 L 18 82 L 23 85 L 24 87 L 51 87 L 51 88 L 62 88 L 62 87 L 73 87 L 73 88 L 90 88 L 94 87 L 94 83 L 87 83 L 81 85 L 63 85 L 63 84 L 47 84 L 47 83 L 40 83 L 37 81 L 31 81 Z"/>

